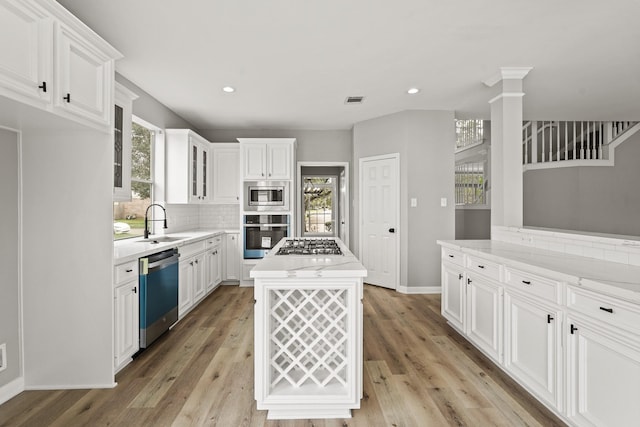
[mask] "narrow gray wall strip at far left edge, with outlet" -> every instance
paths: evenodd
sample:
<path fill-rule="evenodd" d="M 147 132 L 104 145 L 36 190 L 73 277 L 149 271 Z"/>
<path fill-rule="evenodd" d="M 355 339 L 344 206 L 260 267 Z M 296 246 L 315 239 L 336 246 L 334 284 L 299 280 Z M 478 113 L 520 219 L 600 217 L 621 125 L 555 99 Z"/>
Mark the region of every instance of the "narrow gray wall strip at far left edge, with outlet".
<path fill-rule="evenodd" d="M 21 376 L 18 134 L 0 129 L 0 344 L 7 345 L 7 368 L 0 387 Z"/>

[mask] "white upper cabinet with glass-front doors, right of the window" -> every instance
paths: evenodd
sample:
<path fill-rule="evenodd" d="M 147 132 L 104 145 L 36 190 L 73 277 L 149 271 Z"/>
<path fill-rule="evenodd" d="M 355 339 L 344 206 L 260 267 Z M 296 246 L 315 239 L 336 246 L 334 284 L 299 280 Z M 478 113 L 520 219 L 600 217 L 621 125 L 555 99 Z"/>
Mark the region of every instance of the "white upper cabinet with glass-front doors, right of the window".
<path fill-rule="evenodd" d="M 209 201 L 209 141 L 189 129 L 166 131 L 167 203 Z"/>

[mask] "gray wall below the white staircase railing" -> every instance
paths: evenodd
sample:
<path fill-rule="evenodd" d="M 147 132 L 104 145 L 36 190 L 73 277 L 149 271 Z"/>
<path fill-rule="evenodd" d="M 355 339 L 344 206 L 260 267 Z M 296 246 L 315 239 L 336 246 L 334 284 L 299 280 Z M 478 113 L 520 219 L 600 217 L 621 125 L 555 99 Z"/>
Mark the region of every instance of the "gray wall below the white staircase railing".
<path fill-rule="evenodd" d="M 615 167 L 524 173 L 524 225 L 640 236 L 640 132 L 615 152 Z"/>

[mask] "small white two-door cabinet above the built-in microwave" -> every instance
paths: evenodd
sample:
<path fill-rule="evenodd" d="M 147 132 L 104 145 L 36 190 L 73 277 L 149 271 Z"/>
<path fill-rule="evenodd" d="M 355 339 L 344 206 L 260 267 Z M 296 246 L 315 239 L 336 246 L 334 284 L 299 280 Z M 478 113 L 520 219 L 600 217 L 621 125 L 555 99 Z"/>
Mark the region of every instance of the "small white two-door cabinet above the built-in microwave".
<path fill-rule="evenodd" d="M 295 138 L 238 138 L 238 141 L 243 179 L 291 179 Z"/>

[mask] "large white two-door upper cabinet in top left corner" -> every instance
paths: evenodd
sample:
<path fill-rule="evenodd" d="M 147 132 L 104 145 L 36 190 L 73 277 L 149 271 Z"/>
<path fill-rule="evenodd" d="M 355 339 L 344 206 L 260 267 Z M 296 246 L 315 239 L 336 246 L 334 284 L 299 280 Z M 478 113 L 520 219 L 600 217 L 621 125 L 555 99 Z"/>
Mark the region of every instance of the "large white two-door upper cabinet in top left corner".
<path fill-rule="evenodd" d="M 2 96 L 110 132 L 121 57 L 53 0 L 0 0 Z"/>

